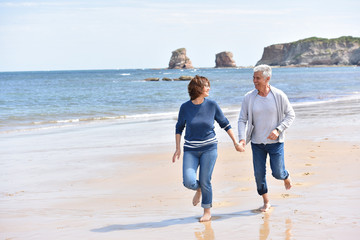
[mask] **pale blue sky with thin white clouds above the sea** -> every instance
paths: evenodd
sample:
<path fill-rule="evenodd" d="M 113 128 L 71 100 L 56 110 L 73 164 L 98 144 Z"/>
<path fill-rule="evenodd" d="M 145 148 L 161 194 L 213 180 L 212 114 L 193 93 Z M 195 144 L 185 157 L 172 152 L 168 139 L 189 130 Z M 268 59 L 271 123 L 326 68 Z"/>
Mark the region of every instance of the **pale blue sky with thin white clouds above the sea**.
<path fill-rule="evenodd" d="M 0 71 L 166 68 L 186 48 L 194 67 L 230 51 L 252 66 L 264 47 L 360 37 L 360 1 L 0 0 Z"/>

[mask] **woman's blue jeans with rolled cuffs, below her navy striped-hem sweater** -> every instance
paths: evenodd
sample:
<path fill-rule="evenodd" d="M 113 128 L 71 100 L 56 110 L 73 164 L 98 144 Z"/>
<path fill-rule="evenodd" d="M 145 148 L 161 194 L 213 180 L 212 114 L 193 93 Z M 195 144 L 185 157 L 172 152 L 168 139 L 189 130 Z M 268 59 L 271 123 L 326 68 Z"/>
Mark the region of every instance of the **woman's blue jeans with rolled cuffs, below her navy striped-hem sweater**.
<path fill-rule="evenodd" d="M 186 188 L 201 188 L 201 207 L 212 207 L 211 175 L 217 158 L 217 148 L 206 151 L 186 151 L 183 158 L 183 184 Z M 197 169 L 200 167 L 199 180 Z"/>

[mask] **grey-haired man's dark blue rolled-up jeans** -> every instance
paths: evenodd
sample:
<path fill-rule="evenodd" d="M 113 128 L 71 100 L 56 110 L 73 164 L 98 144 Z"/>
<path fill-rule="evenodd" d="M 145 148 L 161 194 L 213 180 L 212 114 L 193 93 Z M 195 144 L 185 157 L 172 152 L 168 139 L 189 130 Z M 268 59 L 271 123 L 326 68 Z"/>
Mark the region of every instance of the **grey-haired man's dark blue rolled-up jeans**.
<path fill-rule="evenodd" d="M 259 195 L 263 195 L 268 192 L 266 184 L 266 157 L 268 154 L 273 177 L 279 180 L 285 180 L 289 177 L 284 163 L 284 143 L 251 143 L 251 148 L 257 191 Z"/>

